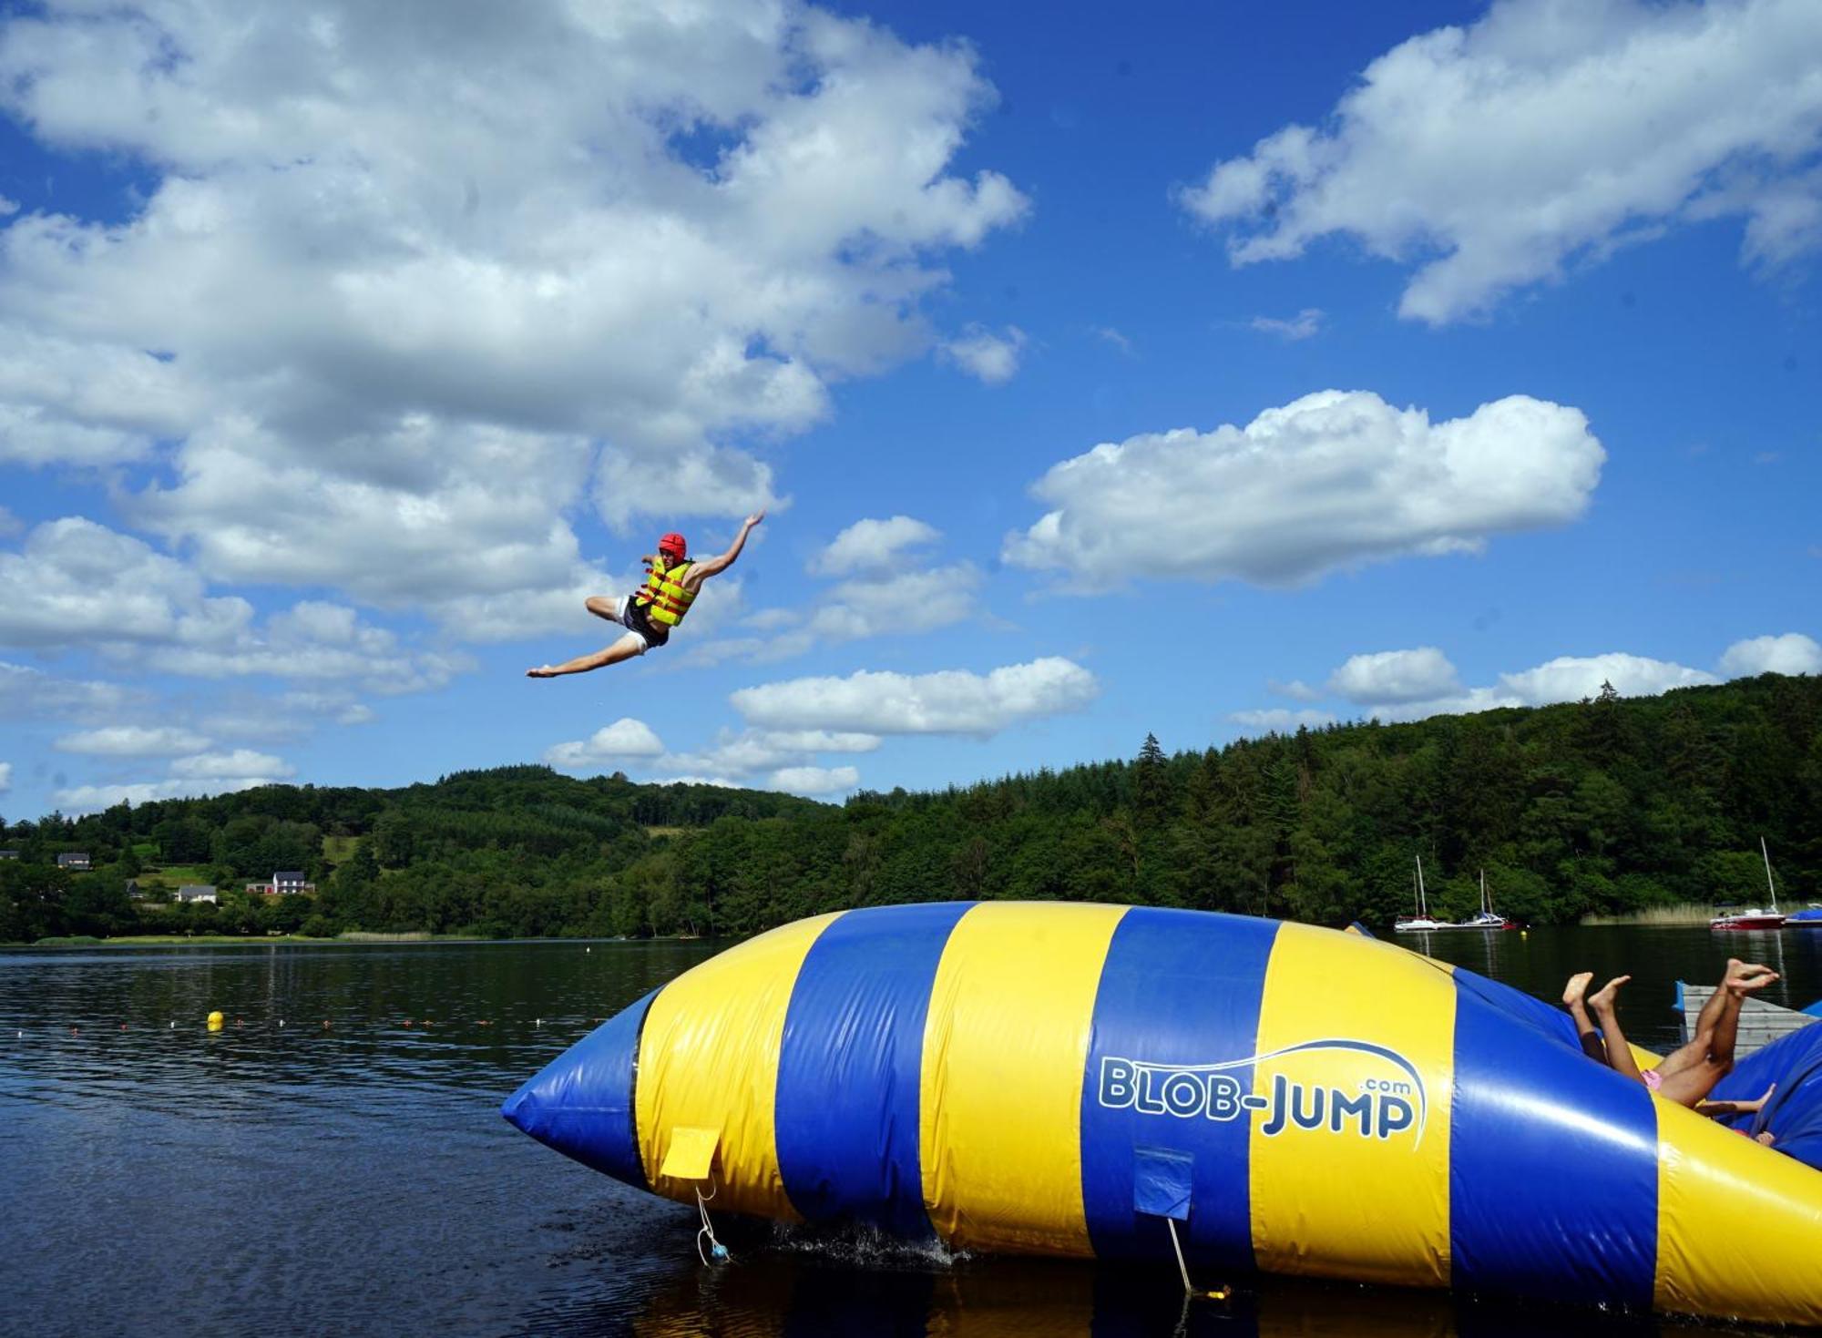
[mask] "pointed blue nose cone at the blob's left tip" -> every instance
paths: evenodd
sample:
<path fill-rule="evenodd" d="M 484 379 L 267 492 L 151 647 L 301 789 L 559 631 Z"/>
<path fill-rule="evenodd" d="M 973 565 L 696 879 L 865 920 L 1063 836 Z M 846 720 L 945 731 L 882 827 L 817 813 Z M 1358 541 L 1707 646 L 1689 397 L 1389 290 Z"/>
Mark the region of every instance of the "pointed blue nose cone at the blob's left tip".
<path fill-rule="evenodd" d="M 619 1010 L 507 1097 L 499 1114 L 539 1143 L 636 1189 L 645 1183 L 632 1083 L 658 990 Z"/>

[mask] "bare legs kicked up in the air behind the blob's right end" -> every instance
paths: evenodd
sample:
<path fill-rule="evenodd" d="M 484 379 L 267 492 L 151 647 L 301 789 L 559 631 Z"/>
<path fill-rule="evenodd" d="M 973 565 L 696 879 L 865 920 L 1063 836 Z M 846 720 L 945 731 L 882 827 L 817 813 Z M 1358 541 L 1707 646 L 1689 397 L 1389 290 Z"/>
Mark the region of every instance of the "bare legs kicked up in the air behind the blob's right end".
<path fill-rule="evenodd" d="M 1751 1101 L 1709 1101 L 1707 1094 L 1715 1090 L 1720 1079 L 1733 1072 L 1733 1045 L 1740 1030 L 1740 1004 L 1749 993 L 1758 993 L 1776 981 L 1776 972 L 1769 966 L 1729 957 L 1727 973 L 1722 977 L 1720 986 L 1702 1004 L 1694 1037 L 1689 1045 L 1665 1055 L 1663 1063 L 1656 1068 L 1638 1066 L 1633 1048 L 1625 1043 L 1625 1034 L 1620 1030 L 1616 1003 L 1620 986 L 1631 979 L 1631 975 L 1616 975 L 1598 992 L 1589 993 L 1594 972 L 1581 972 L 1571 975 L 1569 984 L 1563 986 L 1563 1003 L 1569 1006 L 1569 1015 L 1576 1019 L 1576 1035 L 1581 1037 L 1581 1048 L 1589 1057 L 1643 1083 L 1665 1101 L 1691 1106 L 1704 1116 L 1742 1116 L 1764 1108 L 1771 1090 Z M 1594 1021 L 1600 1023 L 1598 1030 L 1589 1014 L 1594 1014 Z M 1769 1134 L 1760 1134 L 1758 1137 L 1764 1143 L 1771 1141 Z"/>

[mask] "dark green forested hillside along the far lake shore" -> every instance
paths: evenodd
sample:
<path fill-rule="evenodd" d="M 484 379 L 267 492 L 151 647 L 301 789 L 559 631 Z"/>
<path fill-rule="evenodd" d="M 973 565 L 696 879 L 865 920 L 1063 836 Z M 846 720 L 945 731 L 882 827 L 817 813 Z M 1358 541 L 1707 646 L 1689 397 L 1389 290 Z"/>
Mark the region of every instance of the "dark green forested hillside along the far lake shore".
<path fill-rule="evenodd" d="M 714 786 L 465 771 L 404 789 L 266 786 L 0 822 L 0 941 L 344 930 L 743 935 L 847 906 L 1060 899 L 1387 924 L 1423 857 L 1432 910 L 1530 922 L 1822 899 L 1822 680 L 1299 729 L 844 806 Z M 55 868 L 84 851 L 89 873 Z M 217 906 L 128 899 L 160 870 Z M 313 897 L 241 886 L 304 870 Z"/>

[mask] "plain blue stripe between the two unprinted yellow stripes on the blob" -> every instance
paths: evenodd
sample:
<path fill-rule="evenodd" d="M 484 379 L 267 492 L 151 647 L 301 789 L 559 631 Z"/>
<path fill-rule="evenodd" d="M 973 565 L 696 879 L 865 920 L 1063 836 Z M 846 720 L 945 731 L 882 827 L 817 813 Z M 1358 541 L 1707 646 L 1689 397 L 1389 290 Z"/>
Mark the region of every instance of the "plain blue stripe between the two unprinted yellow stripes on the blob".
<path fill-rule="evenodd" d="M 807 1221 L 929 1236 L 918 1156 L 924 1017 L 975 902 L 875 906 L 825 928 L 798 972 L 778 1054 L 778 1168 Z"/>

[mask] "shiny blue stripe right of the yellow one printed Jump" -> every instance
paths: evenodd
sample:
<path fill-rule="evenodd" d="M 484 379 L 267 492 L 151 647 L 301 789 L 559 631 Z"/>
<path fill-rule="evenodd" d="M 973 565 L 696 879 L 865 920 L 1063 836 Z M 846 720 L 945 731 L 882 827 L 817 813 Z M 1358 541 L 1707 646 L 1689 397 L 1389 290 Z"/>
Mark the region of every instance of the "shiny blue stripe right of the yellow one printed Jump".
<path fill-rule="evenodd" d="M 1459 975 L 1459 973 L 1458 973 Z M 1658 1116 L 1640 1083 L 1458 981 L 1448 1251 L 1465 1291 L 1651 1309 Z"/>

